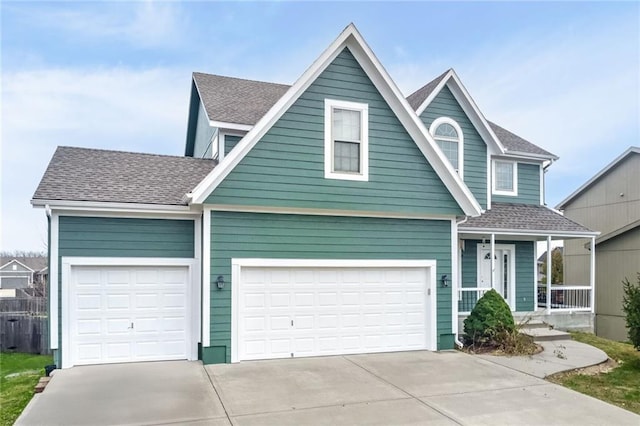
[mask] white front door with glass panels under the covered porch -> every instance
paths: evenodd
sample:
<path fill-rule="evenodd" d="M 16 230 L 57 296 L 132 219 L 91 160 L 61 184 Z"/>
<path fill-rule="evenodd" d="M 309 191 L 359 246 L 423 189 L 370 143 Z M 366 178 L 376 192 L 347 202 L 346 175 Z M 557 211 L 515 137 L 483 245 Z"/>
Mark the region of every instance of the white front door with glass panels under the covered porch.
<path fill-rule="evenodd" d="M 515 292 L 515 246 L 496 244 L 494 249 L 495 276 L 491 277 L 491 246 L 478 244 L 478 287 L 493 288 L 507 301 L 511 309 Z"/>

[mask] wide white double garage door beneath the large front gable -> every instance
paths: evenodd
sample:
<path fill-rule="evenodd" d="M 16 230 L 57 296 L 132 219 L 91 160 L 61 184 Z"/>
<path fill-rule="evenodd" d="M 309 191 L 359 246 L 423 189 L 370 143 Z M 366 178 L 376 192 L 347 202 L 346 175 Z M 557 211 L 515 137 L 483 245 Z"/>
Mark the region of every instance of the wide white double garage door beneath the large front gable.
<path fill-rule="evenodd" d="M 428 348 L 429 268 L 242 267 L 238 360 Z"/>

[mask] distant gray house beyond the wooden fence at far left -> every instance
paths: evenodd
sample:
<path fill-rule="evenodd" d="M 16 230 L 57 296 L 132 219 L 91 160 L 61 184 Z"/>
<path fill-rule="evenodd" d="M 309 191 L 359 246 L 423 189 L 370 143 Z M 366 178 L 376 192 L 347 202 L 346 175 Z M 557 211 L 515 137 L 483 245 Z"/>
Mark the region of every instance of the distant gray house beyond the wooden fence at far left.
<path fill-rule="evenodd" d="M 0 289 L 29 288 L 46 277 L 46 257 L 0 258 Z"/>

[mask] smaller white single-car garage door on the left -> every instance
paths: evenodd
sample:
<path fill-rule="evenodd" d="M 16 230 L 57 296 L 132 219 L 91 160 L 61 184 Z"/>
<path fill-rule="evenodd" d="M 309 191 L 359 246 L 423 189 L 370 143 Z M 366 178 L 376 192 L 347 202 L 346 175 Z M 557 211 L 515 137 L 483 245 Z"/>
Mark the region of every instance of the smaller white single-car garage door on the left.
<path fill-rule="evenodd" d="M 72 266 L 72 365 L 186 359 L 185 266 Z"/>

